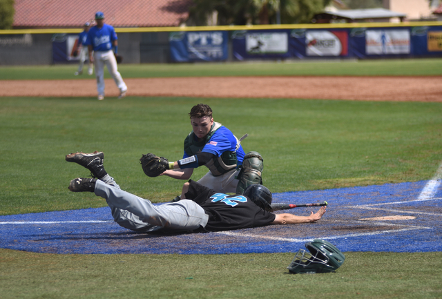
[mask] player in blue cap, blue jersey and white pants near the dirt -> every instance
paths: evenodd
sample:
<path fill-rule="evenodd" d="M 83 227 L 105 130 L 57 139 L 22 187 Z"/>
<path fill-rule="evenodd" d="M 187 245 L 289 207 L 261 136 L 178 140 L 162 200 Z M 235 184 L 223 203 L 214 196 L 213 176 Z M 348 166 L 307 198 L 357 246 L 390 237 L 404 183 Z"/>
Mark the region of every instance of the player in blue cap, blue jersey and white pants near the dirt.
<path fill-rule="evenodd" d="M 104 66 L 108 68 L 115 84 L 119 89 L 119 99 L 126 96 L 127 86 L 122 75 L 118 73 L 115 54 L 118 52 L 117 34 L 113 26 L 104 23 L 103 12 L 95 14 L 96 26 L 90 28 L 86 45 L 89 49 L 89 61 L 95 64 L 95 76 L 97 77 L 98 99 L 104 99 Z"/>

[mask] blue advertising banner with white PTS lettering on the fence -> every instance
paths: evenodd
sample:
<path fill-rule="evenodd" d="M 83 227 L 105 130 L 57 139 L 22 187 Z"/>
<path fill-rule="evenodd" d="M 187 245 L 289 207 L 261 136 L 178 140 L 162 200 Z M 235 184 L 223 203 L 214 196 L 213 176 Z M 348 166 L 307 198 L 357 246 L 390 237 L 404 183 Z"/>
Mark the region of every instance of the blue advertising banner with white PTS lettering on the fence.
<path fill-rule="evenodd" d="M 174 62 L 226 60 L 228 38 L 227 31 L 171 32 L 171 59 Z"/>

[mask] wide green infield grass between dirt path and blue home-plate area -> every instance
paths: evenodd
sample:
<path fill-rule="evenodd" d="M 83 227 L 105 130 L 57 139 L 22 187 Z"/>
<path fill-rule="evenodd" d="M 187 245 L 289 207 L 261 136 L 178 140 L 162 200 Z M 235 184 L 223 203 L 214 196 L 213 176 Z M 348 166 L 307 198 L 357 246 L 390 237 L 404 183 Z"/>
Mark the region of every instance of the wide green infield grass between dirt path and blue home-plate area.
<path fill-rule="evenodd" d="M 181 193 L 183 181 L 149 178 L 139 159 L 182 158 L 188 110 L 209 104 L 244 151 L 264 157 L 273 192 L 331 189 L 432 177 L 441 163 L 442 104 L 302 99 L 128 97 L 0 99 L 0 215 L 105 206 L 67 186 L 88 171 L 64 161 L 75 151 L 104 151 L 108 173 L 126 191 L 155 202 Z M 194 178 L 206 168 L 198 168 Z"/>

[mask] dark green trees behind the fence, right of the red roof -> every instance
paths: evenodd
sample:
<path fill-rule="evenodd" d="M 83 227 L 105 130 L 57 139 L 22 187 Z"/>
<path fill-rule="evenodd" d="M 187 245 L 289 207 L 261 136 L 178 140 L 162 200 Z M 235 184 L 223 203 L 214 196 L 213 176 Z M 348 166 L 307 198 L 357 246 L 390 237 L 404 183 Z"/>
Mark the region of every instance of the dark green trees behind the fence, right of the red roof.
<path fill-rule="evenodd" d="M 314 14 L 324 10 L 331 0 L 193 0 L 189 21 L 196 26 L 218 12 L 218 25 L 310 23 Z"/>

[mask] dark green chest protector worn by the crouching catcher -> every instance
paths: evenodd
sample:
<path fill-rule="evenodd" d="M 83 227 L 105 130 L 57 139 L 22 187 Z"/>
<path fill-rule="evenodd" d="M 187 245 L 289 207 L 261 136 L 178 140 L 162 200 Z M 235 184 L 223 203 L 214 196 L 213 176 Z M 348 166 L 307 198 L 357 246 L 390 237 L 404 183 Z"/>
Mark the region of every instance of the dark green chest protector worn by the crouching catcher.
<path fill-rule="evenodd" d="M 202 142 L 195 140 L 195 134 L 193 131 L 187 135 L 184 140 L 184 151 L 187 155 L 192 156 L 197 153 L 201 153 L 202 148 L 209 142 L 215 131 L 221 128 L 222 124 L 219 122 L 213 122 L 213 126 L 206 138 Z M 236 138 L 238 140 L 238 138 Z M 226 151 L 222 153 L 220 157 L 215 157 L 213 160 L 208 162 L 205 166 L 209 168 L 209 171 L 215 176 L 223 175 L 228 173 L 232 169 L 236 168 L 237 164 L 236 153 L 233 151 Z"/>

